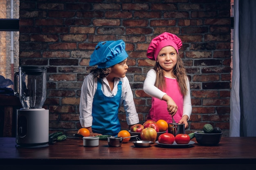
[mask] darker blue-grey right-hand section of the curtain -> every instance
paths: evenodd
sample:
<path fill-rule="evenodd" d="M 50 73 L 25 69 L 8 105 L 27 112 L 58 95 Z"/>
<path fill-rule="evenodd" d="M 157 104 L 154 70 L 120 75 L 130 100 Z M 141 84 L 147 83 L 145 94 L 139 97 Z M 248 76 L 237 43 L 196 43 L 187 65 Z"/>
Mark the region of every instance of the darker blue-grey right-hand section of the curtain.
<path fill-rule="evenodd" d="M 239 0 L 240 136 L 256 136 L 256 0 Z"/>

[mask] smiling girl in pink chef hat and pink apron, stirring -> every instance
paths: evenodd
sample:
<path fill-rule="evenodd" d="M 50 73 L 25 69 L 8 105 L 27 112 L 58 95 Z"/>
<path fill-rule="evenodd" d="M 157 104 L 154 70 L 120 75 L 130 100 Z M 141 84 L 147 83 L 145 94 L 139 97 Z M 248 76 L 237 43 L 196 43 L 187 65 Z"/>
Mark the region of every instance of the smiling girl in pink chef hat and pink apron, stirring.
<path fill-rule="evenodd" d="M 189 79 L 178 51 L 181 46 L 180 38 L 167 32 L 150 42 L 147 57 L 156 63 L 147 73 L 143 90 L 152 96 L 147 119 L 164 119 L 167 123 L 174 119 L 187 128 L 192 106 Z"/>

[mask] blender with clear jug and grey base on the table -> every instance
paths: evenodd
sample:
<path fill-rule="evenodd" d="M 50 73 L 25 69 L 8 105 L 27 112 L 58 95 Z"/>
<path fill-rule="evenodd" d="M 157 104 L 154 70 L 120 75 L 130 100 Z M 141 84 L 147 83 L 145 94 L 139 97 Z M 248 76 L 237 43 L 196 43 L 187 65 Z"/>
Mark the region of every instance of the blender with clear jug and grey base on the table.
<path fill-rule="evenodd" d="M 47 67 L 20 66 L 14 75 L 14 94 L 23 108 L 16 110 L 16 147 L 49 146 L 49 110 L 46 99 Z"/>

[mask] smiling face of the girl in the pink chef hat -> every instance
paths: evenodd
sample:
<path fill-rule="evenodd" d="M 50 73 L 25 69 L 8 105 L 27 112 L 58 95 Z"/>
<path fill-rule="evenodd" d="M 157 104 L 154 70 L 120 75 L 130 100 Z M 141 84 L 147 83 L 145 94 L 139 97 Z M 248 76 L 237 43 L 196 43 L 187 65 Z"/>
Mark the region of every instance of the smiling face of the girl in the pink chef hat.
<path fill-rule="evenodd" d="M 164 71 L 173 71 L 174 66 L 177 64 L 177 52 L 173 46 L 163 47 L 158 55 L 157 62 L 164 69 Z"/>

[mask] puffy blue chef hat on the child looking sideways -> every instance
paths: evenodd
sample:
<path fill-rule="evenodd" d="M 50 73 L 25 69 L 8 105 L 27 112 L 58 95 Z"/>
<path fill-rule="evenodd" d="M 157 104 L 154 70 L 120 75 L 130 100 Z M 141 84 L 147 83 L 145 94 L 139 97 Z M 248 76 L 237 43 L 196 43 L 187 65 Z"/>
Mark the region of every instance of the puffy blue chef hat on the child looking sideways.
<path fill-rule="evenodd" d="M 123 40 L 99 42 L 91 55 L 89 66 L 108 68 L 128 57 Z"/>

